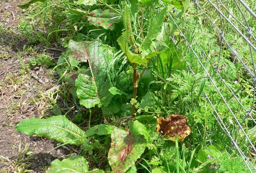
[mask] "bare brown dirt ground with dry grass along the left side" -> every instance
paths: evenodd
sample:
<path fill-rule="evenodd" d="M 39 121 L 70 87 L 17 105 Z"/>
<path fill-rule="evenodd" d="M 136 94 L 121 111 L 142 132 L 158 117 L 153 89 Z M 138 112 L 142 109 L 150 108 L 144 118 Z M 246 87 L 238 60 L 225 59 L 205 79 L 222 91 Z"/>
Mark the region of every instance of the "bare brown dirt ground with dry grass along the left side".
<path fill-rule="evenodd" d="M 24 17 L 16 6 L 20 2 L 22 0 L 0 2 L 0 172 L 44 172 L 52 160 L 67 151 L 52 150 L 56 146 L 54 141 L 15 130 L 21 120 L 40 117 L 47 111 L 48 91 L 56 86 L 49 69 L 26 66 L 31 57 L 46 50 L 32 46 L 34 52 L 23 51 L 26 40 L 17 29 L 19 19 Z M 56 57 L 55 52 L 47 54 Z"/>

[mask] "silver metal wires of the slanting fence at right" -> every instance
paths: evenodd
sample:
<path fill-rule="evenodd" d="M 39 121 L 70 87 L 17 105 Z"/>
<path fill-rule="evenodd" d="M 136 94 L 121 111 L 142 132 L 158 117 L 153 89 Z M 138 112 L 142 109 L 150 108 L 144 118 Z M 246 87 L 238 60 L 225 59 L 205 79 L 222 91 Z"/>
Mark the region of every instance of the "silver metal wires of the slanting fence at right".
<path fill-rule="evenodd" d="M 236 12 L 232 12 L 229 10 L 230 8 L 228 5 L 232 4 L 234 8 L 236 8 Z M 160 0 L 160 4 L 165 7 L 165 4 Z M 211 8 L 211 12 L 214 11 L 215 14 L 209 14 L 209 11 L 206 8 Z M 215 33 L 215 35 L 219 40 L 219 53 L 218 53 L 218 58 L 217 60 L 213 60 L 212 57 L 208 53 L 206 53 L 204 45 L 200 45 L 194 42 L 194 40 L 191 41 L 191 39 L 188 39 L 184 30 L 189 30 L 189 28 L 181 26 L 179 24 L 179 21 L 174 17 L 172 12 L 170 10 L 167 10 L 168 16 L 172 21 L 174 22 L 175 26 L 177 27 L 181 37 L 183 38 L 184 42 L 187 44 L 189 48 L 189 52 L 194 54 L 195 59 L 198 61 L 198 63 L 201 65 L 201 68 L 204 70 L 204 73 L 206 74 L 206 77 L 209 81 L 209 85 L 214 86 L 216 89 L 215 92 L 219 94 L 223 101 L 223 107 L 227 107 L 227 109 L 230 112 L 230 115 L 233 117 L 234 123 L 236 123 L 237 131 L 236 133 L 230 132 L 229 130 L 229 125 L 227 121 L 223 120 L 223 116 L 220 115 L 219 110 L 216 108 L 216 103 L 210 99 L 208 96 L 207 91 L 203 91 L 205 100 L 210 104 L 212 110 L 212 116 L 215 117 L 216 121 L 218 122 L 218 125 L 224 132 L 229 139 L 230 139 L 230 149 L 236 149 L 238 154 L 241 156 L 241 158 L 244 161 L 244 164 L 248 167 L 248 171 L 250 172 L 255 172 L 256 168 L 253 163 L 251 163 L 252 159 L 249 159 L 249 154 L 248 152 L 245 153 L 241 148 L 244 147 L 243 142 L 238 142 L 236 140 L 237 134 L 243 134 L 245 137 L 245 140 L 249 142 L 251 150 L 252 150 L 252 155 L 255 156 L 256 149 L 255 149 L 255 143 L 251 141 L 248 135 L 248 130 L 245 126 L 245 121 L 252 121 L 252 126 L 255 127 L 256 122 L 255 122 L 255 86 L 256 86 L 256 70 L 255 70 L 255 65 L 254 65 L 254 57 L 253 54 L 255 55 L 255 42 L 256 39 L 254 37 L 255 33 L 252 30 L 252 26 L 249 25 L 248 22 L 248 16 L 250 16 L 250 20 L 255 20 L 256 15 L 254 14 L 253 10 L 242 0 L 233 0 L 233 1 L 224 1 L 224 0 L 205 0 L 205 1 L 197 1 L 195 0 L 194 3 L 190 3 L 190 6 L 194 6 L 196 9 L 196 28 L 197 26 L 200 25 L 198 22 L 199 17 L 204 19 L 204 23 L 208 23 L 211 28 L 212 32 Z M 253 6 L 253 3 L 252 3 Z M 175 10 L 174 10 L 175 11 Z M 246 17 L 247 16 L 247 17 Z M 217 21 L 218 20 L 218 24 Z M 195 30 L 196 30 L 195 28 Z M 190 31 L 191 33 L 194 33 L 194 31 Z M 248 45 L 248 50 L 246 53 L 246 58 L 241 57 L 240 54 L 238 53 L 238 47 L 232 46 L 233 44 L 236 44 L 232 42 L 229 43 L 228 39 L 226 38 L 226 34 L 232 33 L 232 35 L 236 36 L 237 39 L 242 38 L 243 42 Z M 203 34 L 203 33 L 202 33 Z M 172 41 L 176 44 L 176 40 L 174 37 L 171 37 Z M 200 51 L 198 51 L 200 50 Z M 245 73 L 247 73 L 247 76 L 250 76 L 249 82 L 253 86 L 251 89 L 251 94 L 252 94 L 252 101 L 251 101 L 251 106 L 250 108 L 247 108 L 244 106 L 244 104 L 241 102 L 240 95 L 238 94 L 237 91 L 232 90 L 230 85 L 225 81 L 223 78 L 223 74 L 220 72 L 220 60 L 223 58 L 223 51 L 229 50 L 230 55 L 234 59 L 237 60 L 236 63 L 240 63 L 243 68 Z M 212 76 L 209 70 L 205 67 L 205 62 L 209 62 L 210 66 L 215 69 L 215 75 Z M 188 69 L 188 72 L 192 73 L 193 76 L 195 77 L 195 80 L 198 80 L 195 71 L 197 69 L 193 69 L 193 65 L 191 65 L 188 61 L 186 61 L 186 66 Z M 229 75 L 229 74 L 227 74 Z M 222 86 L 224 85 L 226 89 L 230 92 L 232 95 L 232 100 L 237 103 L 238 109 L 244 112 L 244 118 L 238 118 L 238 115 L 234 108 L 232 108 L 229 105 L 229 98 L 227 96 L 223 95 L 222 90 L 220 89 L 220 83 Z M 199 131 L 199 134 L 201 135 L 201 132 L 199 128 L 197 127 L 197 130 Z M 202 135 L 201 135 L 202 136 Z M 254 134 L 255 136 L 255 134 Z M 211 140 L 209 140 L 211 143 Z"/>

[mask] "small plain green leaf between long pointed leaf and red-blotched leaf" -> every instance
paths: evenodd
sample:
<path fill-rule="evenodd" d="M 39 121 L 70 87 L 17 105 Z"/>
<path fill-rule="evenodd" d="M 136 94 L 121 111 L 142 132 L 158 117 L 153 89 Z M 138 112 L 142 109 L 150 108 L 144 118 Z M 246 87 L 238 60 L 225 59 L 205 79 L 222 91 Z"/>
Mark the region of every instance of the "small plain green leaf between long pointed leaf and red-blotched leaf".
<path fill-rule="evenodd" d="M 86 131 L 86 136 L 92 136 L 94 134 L 97 135 L 111 135 L 112 131 L 115 129 L 115 126 L 111 125 L 97 125 L 91 127 Z"/>

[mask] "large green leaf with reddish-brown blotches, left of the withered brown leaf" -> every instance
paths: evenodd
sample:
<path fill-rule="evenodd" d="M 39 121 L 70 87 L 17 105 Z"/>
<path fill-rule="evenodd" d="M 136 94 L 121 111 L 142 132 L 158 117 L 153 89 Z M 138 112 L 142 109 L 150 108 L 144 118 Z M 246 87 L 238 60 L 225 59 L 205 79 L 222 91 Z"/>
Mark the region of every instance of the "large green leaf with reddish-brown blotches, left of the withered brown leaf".
<path fill-rule="evenodd" d="M 111 147 L 108 160 L 113 172 L 125 172 L 135 164 L 145 150 L 142 135 L 122 129 L 114 129 L 111 134 Z"/>

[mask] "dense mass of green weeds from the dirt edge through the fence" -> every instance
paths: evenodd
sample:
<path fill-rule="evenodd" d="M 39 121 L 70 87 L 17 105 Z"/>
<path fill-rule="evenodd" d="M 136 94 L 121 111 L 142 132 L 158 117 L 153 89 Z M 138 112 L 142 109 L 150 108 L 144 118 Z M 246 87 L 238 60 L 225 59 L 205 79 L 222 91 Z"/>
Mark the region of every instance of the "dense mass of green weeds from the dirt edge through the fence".
<path fill-rule="evenodd" d="M 50 100 L 48 107 L 56 116 L 25 119 L 16 129 L 79 148 L 78 156 L 54 160 L 48 172 L 67 167 L 78 172 L 248 170 L 238 151 L 230 147 L 231 141 L 213 116 L 214 110 L 205 94 L 218 110 L 231 136 L 253 162 L 250 156 L 253 151 L 247 149 L 249 144 L 246 144 L 245 136 L 238 133 L 235 119 L 223 106 L 222 97 L 215 88 L 221 90 L 230 109 L 251 134 L 252 120 L 243 120 L 244 110 L 226 85 L 236 92 L 247 110 L 252 105 L 253 85 L 242 65 L 230 55 L 227 45 L 222 45 L 219 57 L 219 33 L 189 1 L 181 4 L 163 1 L 166 8 L 157 1 L 40 2 L 38 6 L 32 5 L 31 10 L 32 20 L 39 20 L 46 31 L 33 29 L 37 41 L 50 44 L 51 40 L 56 40 L 67 48 L 52 69 L 59 75 L 58 82 L 63 84 L 59 94 L 66 108 L 60 108 L 56 92 L 50 92 L 42 99 Z M 210 5 L 205 2 L 200 5 L 220 26 L 219 16 Z M 232 3 L 228 6 L 237 10 Z M 177 11 L 172 17 L 188 42 L 198 45 L 194 49 L 205 70 L 166 15 L 166 11 L 172 11 L 173 7 Z M 248 17 L 248 21 L 252 22 L 252 19 Z M 27 27 L 26 22 L 20 25 L 21 30 Z M 222 24 L 227 26 L 225 22 Z M 227 40 L 238 47 L 239 55 L 246 60 L 245 42 L 233 36 L 235 33 L 230 28 L 225 28 L 225 32 L 228 33 Z M 207 57 L 202 50 L 208 53 Z M 22 60 L 20 64 L 26 69 Z M 30 64 L 51 67 L 54 62 L 42 54 L 30 59 Z M 218 73 L 214 68 L 216 65 Z M 216 86 L 212 85 L 207 73 Z M 73 109 L 75 112 L 71 114 Z M 190 135 L 185 134 L 186 123 L 189 133 L 192 132 Z M 160 125 L 164 129 L 158 129 Z M 232 163 L 239 166 L 232 166 Z"/>

